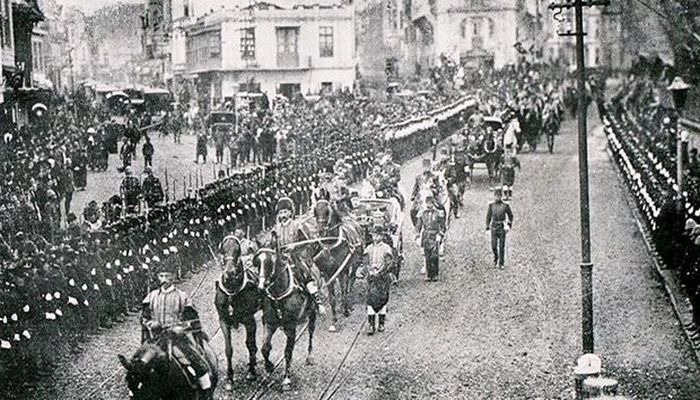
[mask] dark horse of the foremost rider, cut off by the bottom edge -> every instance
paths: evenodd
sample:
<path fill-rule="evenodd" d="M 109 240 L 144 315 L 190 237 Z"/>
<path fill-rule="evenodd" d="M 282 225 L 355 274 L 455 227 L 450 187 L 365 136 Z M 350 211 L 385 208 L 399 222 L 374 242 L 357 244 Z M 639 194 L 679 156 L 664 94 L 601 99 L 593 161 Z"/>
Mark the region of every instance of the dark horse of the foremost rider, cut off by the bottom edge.
<path fill-rule="evenodd" d="M 164 332 L 161 339 L 176 339 L 178 333 Z M 173 335 L 168 337 L 167 335 Z M 211 372 L 211 387 L 203 390 L 192 382 L 188 369 L 178 365 L 174 358 L 155 343 L 144 343 L 130 360 L 119 355 L 126 369 L 129 394 L 135 400 L 213 400 L 218 382 L 218 363 L 211 351 L 204 351 Z"/>

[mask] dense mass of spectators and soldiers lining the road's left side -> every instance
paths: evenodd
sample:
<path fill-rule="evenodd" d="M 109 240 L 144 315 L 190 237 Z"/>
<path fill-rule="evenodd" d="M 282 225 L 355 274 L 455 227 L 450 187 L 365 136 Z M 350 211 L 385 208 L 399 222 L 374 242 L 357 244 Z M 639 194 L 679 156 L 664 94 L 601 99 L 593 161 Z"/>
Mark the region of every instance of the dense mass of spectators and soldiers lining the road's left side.
<path fill-rule="evenodd" d="M 149 207 L 147 215 L 125 212 L 121 218 L 106 218 L 91 202 L 82 223 L 69 204 L 62 207 L 65 222 L 59 222 L 61 207 L 56 203 L 65 202 L 68 191 L 54 176 L 75 173 L 76 167 L 86 173 L 88 163 L 82 160 L 88 158 L 88 146 L 93 141 L 107 146 L 109 140 L 101 134 L 109 120 L 65 108 L 40 125 L 10 132 L 2 149 L 2 166 L 8 172 L 3 206 L 11 211 L 2 213 L 0 230 L 3 373 L 46 370 L 42 367 L 57 347 L 79 348 L 85 335 L 135 311 L 159 265 L 175 264 L 178 274 L 186 276 L 205 265 L 213 244 L 234 227 L 246 227 L 254 235 L 270 226 L 279 197 L 295 199 L 303 210 L 313 188 L 326 179 L 324 172 L 339 160 L 354 179 L 361 179 L 377 144 L 385 141 L 383 125 L 450 100 L 435 96 L 382 102 L 349 96 L 280 105 L 270 129 L 287 130 L 286 157 L 222 176 L 187 198 Z M 434 132 L 383 144 L 405 159 L 427 148 L 429 135 Z M 21 151 L 31 157 L 22 157 Z M 124 173 L 128 171 L 125 165 Z M 46 204 L 37 199 L 42 196 Z"/>

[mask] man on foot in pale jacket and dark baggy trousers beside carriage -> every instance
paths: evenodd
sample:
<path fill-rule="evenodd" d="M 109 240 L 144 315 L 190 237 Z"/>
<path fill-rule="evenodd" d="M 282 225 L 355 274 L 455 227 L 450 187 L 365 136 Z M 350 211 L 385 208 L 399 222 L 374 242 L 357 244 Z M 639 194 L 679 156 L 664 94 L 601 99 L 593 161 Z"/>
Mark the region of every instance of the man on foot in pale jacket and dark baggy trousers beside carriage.
<path fill-rule="evenodd" d="M 372 243 L 365 248 L 363 269 L 359 274 L 367 276 L 367 322 L 368 335 L 375 332 L 376 314 L 379 314 L 377 330 L 384 332 L 386 304 L 391 290 L 391 269 L 394 264 L 394 251 L 384 242 L 386 231 L 382 225 L 372 227 Z"/>

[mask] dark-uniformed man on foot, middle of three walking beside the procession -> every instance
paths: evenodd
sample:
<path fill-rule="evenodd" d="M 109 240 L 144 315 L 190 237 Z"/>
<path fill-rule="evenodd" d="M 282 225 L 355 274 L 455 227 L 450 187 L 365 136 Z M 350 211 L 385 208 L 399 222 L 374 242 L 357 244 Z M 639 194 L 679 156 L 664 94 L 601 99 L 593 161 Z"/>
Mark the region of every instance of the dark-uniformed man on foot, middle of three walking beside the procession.
<path fill-rule="evenodd" d="M 426 197 L 426 209 L 418 215 L 416 224 L 416 241 L 420 239 L 425 256 L 425 267 L 428 282 L 438 280 L 439 271 L 439 247 L 447 230 L 445 213 L 436 207 L 435 197 Z M 422 273 L 423 271 L 421 271 Z"/>

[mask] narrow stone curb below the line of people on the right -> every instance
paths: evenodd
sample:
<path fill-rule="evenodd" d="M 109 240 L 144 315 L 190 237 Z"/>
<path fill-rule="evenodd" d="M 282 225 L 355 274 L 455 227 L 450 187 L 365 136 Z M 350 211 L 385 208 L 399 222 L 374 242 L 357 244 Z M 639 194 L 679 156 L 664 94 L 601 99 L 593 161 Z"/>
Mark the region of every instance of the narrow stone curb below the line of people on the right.
<path fill-rule="evenodd" d="M 627 205 L 629 206 L 632 216 L 634 217 L 635 224 L 637 225 L 637 229 L 642 236 L 644 245 L 649 251 L 649 255 L 652 256 L 651 259 L 653 261 L 654 268 L 656 269 L 656 273 L 663 281 L 664 289 L 671 300 L 673 311 L 676 313 L 676 317 L 681 324 L 680 328 L 683 330 L 688 343 L 690 343 L 690 347 L 695 355 L 695 360 L 700 364 L 700 335 L 698 335 L 700 332 L 693 322 L 693 312 L 690 299 L 688 299 L 685 293 L 683 293 L 683 288 L 680 284 L 676 271 L 668 269 L 659 256 L 659 253 L 656 251 L 656 247 L 651 240 L 651 234 L 640 219 L 639 210 L 637 210 L 637 205 L 632 198 L 630 189 L 623 179 L 618 165 L 614 162 L 614 155 L 612 151 L 609 147 L 606 147 L 605 150 L 610 157 L 609 160 L 611 164 L 613 164 L 615 167 L 615 176 L 618 178 L 618 181 L 622 183 L 623 196 L 627 202 Z"/>

